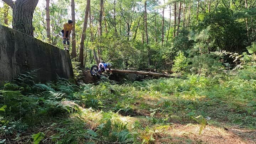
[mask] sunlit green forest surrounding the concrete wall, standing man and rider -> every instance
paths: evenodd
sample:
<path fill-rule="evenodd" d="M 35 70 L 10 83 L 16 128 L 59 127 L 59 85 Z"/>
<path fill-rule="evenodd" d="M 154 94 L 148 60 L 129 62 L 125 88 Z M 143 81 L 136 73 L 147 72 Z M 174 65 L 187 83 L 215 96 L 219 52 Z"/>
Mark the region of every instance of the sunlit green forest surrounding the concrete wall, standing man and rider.
<path fill-rule="evenodd" d="M 68 20 L 74 78 L 1 83 L 0 143 L 256 143 L 256 0 L 0 0 L 60 49 Z M 119 81 L 86 82 L 102 61 Z"/>

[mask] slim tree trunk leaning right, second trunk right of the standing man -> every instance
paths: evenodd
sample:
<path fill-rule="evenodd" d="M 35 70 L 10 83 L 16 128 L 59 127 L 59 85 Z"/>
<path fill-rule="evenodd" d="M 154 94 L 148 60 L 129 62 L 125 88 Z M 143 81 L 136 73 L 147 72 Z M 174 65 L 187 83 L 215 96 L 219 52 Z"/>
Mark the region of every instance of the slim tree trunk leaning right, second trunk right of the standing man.
<path fill-rule="evenodd" d="M 87 20 L 88 20 L 88 13 L 90 9 L 90 0 L 87 0 L 86 3 L 86 9 L 85 9 L 85 18 L 84 18 L 84 25 L 83 25 L 83 30 L 81 34 L 81 40 L 80 40 L 80 47 L 79 47 L 79 62 L 81 67 L 84 67 L 84 40 L 85 40 L 85 33 L 86 33 L 86 28 L 87 28 Z"/>

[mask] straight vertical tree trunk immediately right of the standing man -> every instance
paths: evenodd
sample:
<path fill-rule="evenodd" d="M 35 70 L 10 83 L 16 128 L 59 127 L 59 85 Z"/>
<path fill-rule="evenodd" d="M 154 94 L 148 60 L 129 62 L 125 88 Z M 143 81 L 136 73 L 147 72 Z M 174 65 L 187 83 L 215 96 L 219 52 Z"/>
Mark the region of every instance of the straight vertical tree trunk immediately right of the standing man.
<path fill-rule="evenodd" d="M 71 19 L 73 21 L 71 58 L 75 58 L 76 57 L 75 0 L 71 0 Z"/>

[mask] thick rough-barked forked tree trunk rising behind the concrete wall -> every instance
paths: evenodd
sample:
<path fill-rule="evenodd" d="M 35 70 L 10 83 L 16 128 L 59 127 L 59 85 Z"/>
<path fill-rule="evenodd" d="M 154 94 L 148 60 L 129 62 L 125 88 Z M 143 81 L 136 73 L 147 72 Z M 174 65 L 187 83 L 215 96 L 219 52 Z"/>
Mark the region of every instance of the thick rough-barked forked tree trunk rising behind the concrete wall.
<path fill-rule="evenodd" d="M 38 0 L 3 0 L 12 8 L 12 27 L 33 37 L 32 19 Z"/>

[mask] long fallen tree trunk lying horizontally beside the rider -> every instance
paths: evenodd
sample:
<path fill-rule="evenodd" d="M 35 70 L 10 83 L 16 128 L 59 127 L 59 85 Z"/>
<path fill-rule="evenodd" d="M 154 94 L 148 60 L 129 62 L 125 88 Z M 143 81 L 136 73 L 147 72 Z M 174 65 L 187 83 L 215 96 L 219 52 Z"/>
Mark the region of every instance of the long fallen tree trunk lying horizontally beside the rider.
<path fill-rule="evenodd" d="M 152 73 L 152 72 L 148 72 L 148 71 L 112 69 L 112 72 L 113 72 L 113 73 L 114 73 L 114 72 L 117 72 L 117 73 L 130 73 L 130 74 L 154 75 L 154 76 L 165 77 L 165 78 L 176 78 L 176 76 L 173 76 L 173 75 Z"/>

